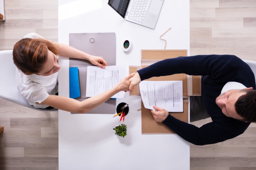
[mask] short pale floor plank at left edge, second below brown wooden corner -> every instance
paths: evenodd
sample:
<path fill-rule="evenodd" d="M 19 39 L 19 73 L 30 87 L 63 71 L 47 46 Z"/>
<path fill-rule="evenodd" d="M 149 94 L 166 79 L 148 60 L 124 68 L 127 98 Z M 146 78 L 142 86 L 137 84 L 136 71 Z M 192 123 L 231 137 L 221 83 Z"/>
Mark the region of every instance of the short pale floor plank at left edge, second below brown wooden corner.
<path fill-rule="evenodd" d="M 0 157 L 24 157 L 24 148 L 20 148 L 20 147 L 1 148 Z"/>

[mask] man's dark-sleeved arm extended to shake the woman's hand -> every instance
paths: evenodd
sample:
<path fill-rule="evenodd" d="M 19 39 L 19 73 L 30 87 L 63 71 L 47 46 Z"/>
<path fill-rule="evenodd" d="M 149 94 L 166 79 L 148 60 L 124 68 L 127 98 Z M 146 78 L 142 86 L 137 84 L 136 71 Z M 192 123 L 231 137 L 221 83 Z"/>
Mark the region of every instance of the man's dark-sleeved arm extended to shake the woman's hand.
<path fill-rule="evenodd" d="M 234 60 L 240 59 L 231 55 L 198 55 L 165 59 L 138 70 L 138 73 L 129 80 L 131 82 L 129 90 L 132 91 L 134 86 L 138 85 L 140 81 L 151 77 L 168 76 L 179 73 L 193 76 L 210 75 L 211 77 L 218 78 L 223 75 L 223 72 L 227 73 L 232 67 L 235 67 Z M 229 64 L 229 67 L 223 67 L 227 64 Z"/>

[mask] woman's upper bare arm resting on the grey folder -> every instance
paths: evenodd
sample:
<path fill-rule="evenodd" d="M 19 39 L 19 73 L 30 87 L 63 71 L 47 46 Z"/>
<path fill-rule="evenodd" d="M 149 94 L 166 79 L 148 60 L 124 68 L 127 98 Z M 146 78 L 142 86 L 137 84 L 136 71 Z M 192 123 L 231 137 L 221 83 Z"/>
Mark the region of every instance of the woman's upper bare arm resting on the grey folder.
<path fill-rule="evenodd" d="M 108 66 L 107 62 L 103 59 L 103 57 L 98 56 L 92 56 L 88 53 L 85 53 L 83 51 L 77 50 L 71 46 L 68 46 L 66 44 L 58 43 L 59 45 L 59 51 L 60 55 L 63 57 L 69 57 L 69 58 L 78 58 L 83 60 L 88 60 L 95 66 L 99 66 L 101 68 L 105 68 L 105 66 Z"/>

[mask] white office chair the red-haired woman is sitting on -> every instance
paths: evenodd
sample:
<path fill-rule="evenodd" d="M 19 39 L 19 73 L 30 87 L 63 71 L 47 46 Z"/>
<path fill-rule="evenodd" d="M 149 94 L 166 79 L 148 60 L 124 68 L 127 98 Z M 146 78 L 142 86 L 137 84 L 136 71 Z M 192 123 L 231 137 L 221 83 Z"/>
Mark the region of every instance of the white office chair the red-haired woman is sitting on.
<path fill-rule="evenodd" d="M 53 111 L 57 109 L 40 109 L 31 106 L 27 100 L 21 96 L 16 87 L 15 80 L 16 66 L 12 59 L 12 50 L 0 51 L 0 98 L 20 104 L 31 109 L 40 111 Z"/>

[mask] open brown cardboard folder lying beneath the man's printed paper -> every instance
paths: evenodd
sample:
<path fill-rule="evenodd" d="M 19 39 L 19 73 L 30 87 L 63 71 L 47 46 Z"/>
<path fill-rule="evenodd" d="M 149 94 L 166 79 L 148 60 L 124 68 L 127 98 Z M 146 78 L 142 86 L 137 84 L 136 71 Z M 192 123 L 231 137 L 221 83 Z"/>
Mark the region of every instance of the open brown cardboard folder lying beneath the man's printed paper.
<path fill-rule="evenodd" d="M 158 61 L 175 58 L 186 57 L 187 50 L 141 50 L 141 66 L 130 66 L 129 72 L 136 72 L 141 68 L 145 68 Z M 152 77 L 146 81 L 172 81 L 181 80 L 183 82 L 183 112 L 170 112 L 175 118 L 187 122 L 189 121 L 189 105 L 188 96 L 201 95 L 201 77 L 189 76 L 187 74 L 173 74 L 170 76 Z M 131 96 L 140 95 L 139 88 L 135 87 L 130 93 Z M 142 134 L 171 134 L 174 133 L 167 128 L 163 123 L 156 122 L 150 112 L 150 109 L 145 109 L 141 102 L 141 133 Z"/>

